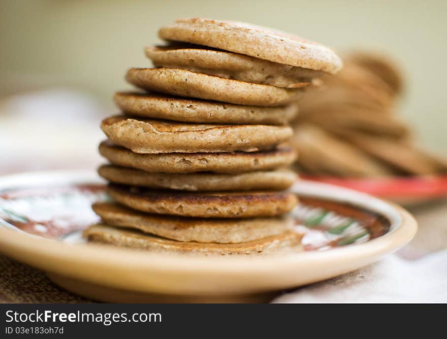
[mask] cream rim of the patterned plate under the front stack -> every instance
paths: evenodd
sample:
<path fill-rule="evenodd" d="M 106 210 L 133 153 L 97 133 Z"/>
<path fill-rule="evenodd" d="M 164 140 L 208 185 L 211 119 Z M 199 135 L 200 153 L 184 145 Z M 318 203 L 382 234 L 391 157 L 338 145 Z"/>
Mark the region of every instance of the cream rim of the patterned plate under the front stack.
<path fill-rule="evenodd" d="M 38 182 L 38 178 L 42 179 L 42 177 L 51 177 L 52 182 L 57 182 L 60 178 L 62 178 L 60 179 L 61 181 L 65 178 L 66 183 L 80 183 L 85 182 L 85 180 L 93 183 L 101 182 L 98 175 L 93 171 L 39 171 L 0 177 L 0 189 L 5 186 L 6 182 L 20 182 L 21 185 L 25 185 L 24 179 L 29 177 L 32 177 L 33 179 L 30 181 L 34 182 Z M 299 185 L 301 185 L 301 188 Z M 377 208 L 380 208 L 388 210 L 387 213 L 391 213 L 391 219 L 394 218 L 392 229 L 379 238 L 368 242 L 326 251 L 300 252 L 265 257 L 186 257 L 111 248 L 96 244 L 68 244 L 0 227 L 0 252 L 48 272 L 72 278 L 82 277 L 82 279 L 89 282 L 101 282 L 107 286 L 122 288 L 124 287 L 122 281 L 114 282 L 113 279 L 104 281 L 105 272 L 117 272 L 119 270 L 127 274 L 145 272 L 175 276 L 193 274 L 197 275 L 198 279 L 208 276 L 218 278 L 219 275 L 235 276 L 248 274 L 261 278 L 266 274 L 284 274 L 287 270 L 299 270 L 300 267 L 306 267 L 307 265 L 322 267 L 330 264 L 339 264 L 342 260 L 349 259 L 368 264 L 379 259 L 382 255 L 399 249 L 416 234 L 417 222 L 406 210 L 396 204 L 372 197 L 366 193 L 305 180 L 297 182 L 292 190 L 301 190 L 301 192 L 314 190 L 314 192 L 320 191 L 320 193 L 325 190 L 335 191 L 344 197 L 343 201 L 354 204 L 354 200 L 361 200 L 361 204 L 358 204 L 357 201 L 355 205 L 370 210 L 371 205 L 375 204 L 373 211 L 384 214 L 383 211 L 377 211 Z M 323 195 L 323 197 L 328 196 Z M 385 214 L 385 216 L 390 217 L 390 214 Z M 52 260 L 52 262 L 45 261 L 45 259 Z M 361 267 L 363 264 L 358 264 L 357 266 Z M 76 270 L 76 267 L 79 265 L 87 265 L 92 270 L 100 267 L 103 272 L 93 275 L 83 274 L 83 272 Z M 349 270 L 352 269 L 346 268 L 342 273 L 349 272 Z M 142 288 L 150 290 L 150 286 L 144 287 L 144 281 L 134 281 L 131 285 L 125 287 L 134 290 L 141 290 Z"/>

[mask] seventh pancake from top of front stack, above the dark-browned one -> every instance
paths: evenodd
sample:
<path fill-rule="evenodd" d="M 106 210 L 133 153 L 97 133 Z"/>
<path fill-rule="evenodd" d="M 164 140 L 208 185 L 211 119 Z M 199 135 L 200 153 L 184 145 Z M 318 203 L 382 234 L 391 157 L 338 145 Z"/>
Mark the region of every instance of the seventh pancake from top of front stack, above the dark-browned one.
<path fill-rule="evenodd" d="M 297 177 L 287 169 L 242 174 L 166 174 L 115 165 L 102 165 L 98 173 L 117 184 L 184 191 L 282 190 L 292 186 Z"/>

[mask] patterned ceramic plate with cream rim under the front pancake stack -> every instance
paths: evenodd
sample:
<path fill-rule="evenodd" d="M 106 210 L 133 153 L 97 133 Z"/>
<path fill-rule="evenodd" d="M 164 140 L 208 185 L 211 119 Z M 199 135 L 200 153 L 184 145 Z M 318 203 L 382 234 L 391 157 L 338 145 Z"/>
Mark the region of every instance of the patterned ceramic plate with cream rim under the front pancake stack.
<path fill-rule="evenodd" d="M 292 188 L 302 246 L 257 256 L 166 255 L 86 244 L 98 221 L 93 201 L 107 199 L 90 172 L 0 178 L 0 251 L 43 269 L 56 284 L 114 302 L 265 301 L 280 290 L 367 265 L 408 243 L 416 221 L 369 195 L 310 181 Z"/>

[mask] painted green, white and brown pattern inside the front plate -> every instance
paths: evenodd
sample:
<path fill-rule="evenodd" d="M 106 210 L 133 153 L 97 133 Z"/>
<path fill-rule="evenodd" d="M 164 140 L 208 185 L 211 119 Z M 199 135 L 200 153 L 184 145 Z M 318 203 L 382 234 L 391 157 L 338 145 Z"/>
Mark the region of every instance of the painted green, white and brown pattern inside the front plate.
<path fill-rule="evenodd" d="M 107 200 L 104 185 L 4 189 L 0 191 L 0 225 L 44 238 L 77 241 L 83 228 L 99 221 L 94 201 Z M 385 234 L 387 219 L 358 207 L 300 196 L 292 212 L 295 229 L 304 233 L 304 250 L 359 244 Z"/>

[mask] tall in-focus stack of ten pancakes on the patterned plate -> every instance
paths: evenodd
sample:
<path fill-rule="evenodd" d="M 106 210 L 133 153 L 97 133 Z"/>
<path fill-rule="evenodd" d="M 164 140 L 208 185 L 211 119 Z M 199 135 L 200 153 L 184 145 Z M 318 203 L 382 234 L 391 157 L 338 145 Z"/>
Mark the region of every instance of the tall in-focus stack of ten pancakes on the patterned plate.
<path fill-rule="evenodd" d="M 303 87 L 340 59 L 313 42 L 243 23 L 177 20 L 149 47 L 154 68 L 117 93 L 123 115 L 105 119 L 114 202 L 93 205 L 89 241 L 164 252 L 252 254 L 300 244 L 288 217 L 297 197 L 286 125 Z"/>

